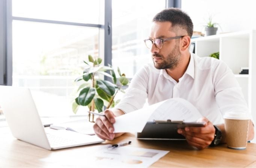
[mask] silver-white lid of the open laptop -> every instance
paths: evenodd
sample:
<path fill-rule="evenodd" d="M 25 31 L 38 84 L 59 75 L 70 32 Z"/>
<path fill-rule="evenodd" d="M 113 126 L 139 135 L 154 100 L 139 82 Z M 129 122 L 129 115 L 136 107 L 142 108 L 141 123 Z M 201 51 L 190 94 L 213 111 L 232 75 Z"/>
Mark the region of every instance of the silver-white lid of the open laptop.
<path fill-rule="evenodd" d="M 0 86 L 0 106 L 15 138 L 51 150 L 29 89 Z"/>

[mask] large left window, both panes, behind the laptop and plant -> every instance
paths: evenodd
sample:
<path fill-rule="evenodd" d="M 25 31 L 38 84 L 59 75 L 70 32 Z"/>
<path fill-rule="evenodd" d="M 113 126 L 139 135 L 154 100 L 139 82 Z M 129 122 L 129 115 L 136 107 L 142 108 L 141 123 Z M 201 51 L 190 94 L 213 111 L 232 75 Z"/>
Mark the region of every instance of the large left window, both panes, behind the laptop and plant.
<path fill-rule="evenodd" d="M 12 85 L 30 88 L 39 115 L 73 115 L 74 80 L 99 55 L 103 26 L 65 23 L 99 24 L 99 9 L 99 0 L 12 0 Z"/>

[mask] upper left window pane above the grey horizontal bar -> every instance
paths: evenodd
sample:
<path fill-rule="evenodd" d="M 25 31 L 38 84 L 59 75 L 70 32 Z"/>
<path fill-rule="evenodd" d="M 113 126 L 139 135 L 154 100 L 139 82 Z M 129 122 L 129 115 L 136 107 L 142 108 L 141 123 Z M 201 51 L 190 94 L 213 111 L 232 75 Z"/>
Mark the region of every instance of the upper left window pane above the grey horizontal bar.
<path fill-rule="evenodd" d="M 100 1 L 102 0 L 12 0 L 12 15 L 44 20 L 104 24 L 99 20 Z"/>

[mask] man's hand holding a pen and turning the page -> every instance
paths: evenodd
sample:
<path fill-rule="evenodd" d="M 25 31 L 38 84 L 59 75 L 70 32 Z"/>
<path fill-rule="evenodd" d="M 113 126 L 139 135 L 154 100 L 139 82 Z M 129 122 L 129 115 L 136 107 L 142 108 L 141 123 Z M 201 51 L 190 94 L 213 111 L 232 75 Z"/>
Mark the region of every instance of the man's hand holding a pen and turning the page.
<path fill-rule="evenodd" d="M 115 115 L 115 114 L 116 115 Z M 95 124 L 93 125 L 94 132 L 97 136 L 101 139 L 108 139 L 113 140 L 114 138 L 122 135 L 123 133 L 113 133 L 114 127 L 113 124 L 116 122 L 115 118 L 116 116 L 123 115 L 123 111 L 114 109 L 113 111 L 107 109 L 104 111 L 104 114 L 106 117 L 98 117 L 95 121 Z"/>

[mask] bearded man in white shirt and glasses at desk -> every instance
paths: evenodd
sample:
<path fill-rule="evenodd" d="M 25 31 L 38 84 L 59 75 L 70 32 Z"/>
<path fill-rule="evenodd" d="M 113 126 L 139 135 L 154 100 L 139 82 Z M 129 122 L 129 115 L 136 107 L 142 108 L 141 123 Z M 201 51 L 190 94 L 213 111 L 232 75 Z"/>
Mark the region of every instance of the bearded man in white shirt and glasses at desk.
<path fill-rule="evenodd" d="M 102 139 L 122 135 L 113 133 L 114 117 L 142 108 L 147 98 L 149 105 L 169 98 L 183 98 L 204 116 L 199 121 L 204 121 L 205 126 L 185 127 L 178 129 L 178 133 L 199 149 L 216 145 L 216 132 L 222 133 L 221 142 L 226 141 L 222 116 L 228 111 L 248 113 L 247 104 L 224 62 L 189 52 L 192 34 L 193 23 L 180 9 L 165 9 L 154 17 L 151 34 L 145 40 L 154 65 L 144 66 L 135 75 L 116 109 L 105 110 L 106 117 L 96 119 L 93 126 L 96 135 Z M 250 121 L 248 140 L 253 137 Z"/>

